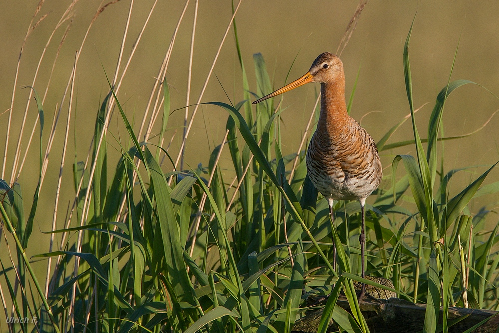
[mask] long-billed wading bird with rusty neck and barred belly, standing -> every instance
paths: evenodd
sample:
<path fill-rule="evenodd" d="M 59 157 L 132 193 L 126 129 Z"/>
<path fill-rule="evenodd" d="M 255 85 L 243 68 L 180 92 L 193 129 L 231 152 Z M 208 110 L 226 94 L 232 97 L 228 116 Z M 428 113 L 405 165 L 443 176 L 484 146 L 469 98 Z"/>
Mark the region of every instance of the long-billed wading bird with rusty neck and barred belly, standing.
<path fill-rule="evenodd" d="M 328 201 L 334 226 L 334 200 L 356 200 L 360 203 L 362 222 L 359 235 L 361 276 L 365 278 L 365 203 L 383 177 L 376 143 L 347 111 L 343 62 L 333 53 L 320 54 L 309 71 L 299 79 L 256 100 L 260 103 L 306 83 L 320 83 L 320 115 L 317 129 L 308 145 L 307 173 L 312 184 Z M 334 269 L 336 249 L 334 247 Z M 359 301 L 365 297 L 362 283 Z"/>

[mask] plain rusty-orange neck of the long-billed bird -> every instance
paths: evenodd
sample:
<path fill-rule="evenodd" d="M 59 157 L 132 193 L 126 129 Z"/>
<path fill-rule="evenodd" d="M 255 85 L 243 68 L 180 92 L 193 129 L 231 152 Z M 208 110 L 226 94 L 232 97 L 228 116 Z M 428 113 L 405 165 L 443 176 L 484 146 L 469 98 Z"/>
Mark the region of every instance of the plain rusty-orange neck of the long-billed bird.
<path fill-rule="evenodd" d="M 350 116 L 345 102 L 345 81 L 336 80 L 320 85 L 320 116 L 317 130 L 328 133 L 344 128 Z"/>

